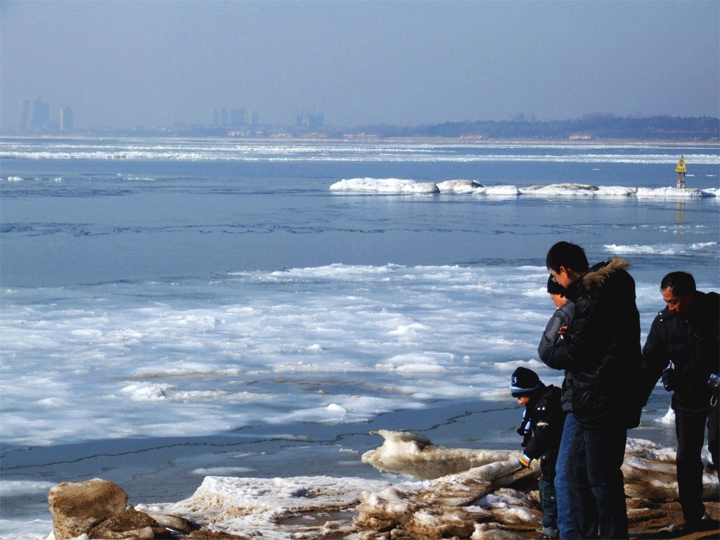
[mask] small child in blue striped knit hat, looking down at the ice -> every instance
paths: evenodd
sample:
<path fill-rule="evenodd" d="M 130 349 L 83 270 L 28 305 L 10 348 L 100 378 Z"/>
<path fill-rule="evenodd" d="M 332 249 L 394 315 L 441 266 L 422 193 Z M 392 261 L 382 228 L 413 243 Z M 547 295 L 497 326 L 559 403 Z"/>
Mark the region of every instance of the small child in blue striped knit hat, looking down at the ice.
<path fill-rule="evenodd" d="M 560 389 L 546 386 L 531 369 L 518 367 L 513 372 L 510 393 L 519 405 L 525 405 L 523 423 L 518 433 L 523 436 L 525 449 L 520 463 L 530 467 L 533 459 L 540 460 L 540 505 L 542 508 L 542 537 L 556 539 L 557 505 L 555 503 L 555 462 L 560 446 L 564 413 L 560 405 Z"/>

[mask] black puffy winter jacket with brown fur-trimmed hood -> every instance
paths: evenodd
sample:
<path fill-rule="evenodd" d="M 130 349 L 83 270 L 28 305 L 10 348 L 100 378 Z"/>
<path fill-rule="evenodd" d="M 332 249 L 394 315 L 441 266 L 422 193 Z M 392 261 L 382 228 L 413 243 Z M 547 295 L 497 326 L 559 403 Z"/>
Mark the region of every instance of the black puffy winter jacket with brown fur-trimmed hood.
<path fill-rule="evenodd" d="M 545 363 L 572 374 L 572 413 L 582 428 L 640 423 L 640 314 L 626 261 L 595 264 L 567 287 L 575 318 Z"/>

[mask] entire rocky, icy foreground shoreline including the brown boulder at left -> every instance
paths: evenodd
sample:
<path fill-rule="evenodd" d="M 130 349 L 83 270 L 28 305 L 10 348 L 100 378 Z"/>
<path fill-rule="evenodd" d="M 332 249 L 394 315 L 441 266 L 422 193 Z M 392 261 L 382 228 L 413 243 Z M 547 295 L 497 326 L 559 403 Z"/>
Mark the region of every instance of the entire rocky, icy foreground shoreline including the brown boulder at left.
<path fill-rule="evenodd" d="M 518 467 L 518 451 L 446 449 L 405 431 L 377 432 L 362 461 L 386 482 L 331 477 L 205 477 L 192 497 L 172 504 L 128 504 L 106 480 L 63 482 L 48 494 L 50 539 L 352 539 L 536 538 L 541 519 L 538 464 Z M 623 466 L 631 539 L 710 539 L 720 534 L 720 487 L 703 475 L 703 531 L 683 535 L 675 451 L 629 439 Z"/>

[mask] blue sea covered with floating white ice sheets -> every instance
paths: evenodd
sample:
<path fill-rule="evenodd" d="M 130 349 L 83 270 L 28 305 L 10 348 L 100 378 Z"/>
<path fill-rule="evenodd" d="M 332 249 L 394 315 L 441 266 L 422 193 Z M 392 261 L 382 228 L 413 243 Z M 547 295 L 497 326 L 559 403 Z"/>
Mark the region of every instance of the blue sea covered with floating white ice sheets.
<path fill-rule="evenodd" d="M 675 165 L 684 156 L 686 186 Z M 516 449 L 547 249 L 626 258 L 642 339 L 668 271 L 720 289 L 717 145 L 0 141 L 0 536 L 46 494 L 206 476 L 378 480 L 405 429 Z M 674 444 L 658 387 L 631 436 Z"/>

